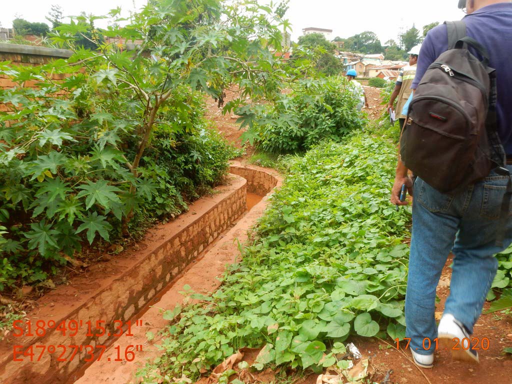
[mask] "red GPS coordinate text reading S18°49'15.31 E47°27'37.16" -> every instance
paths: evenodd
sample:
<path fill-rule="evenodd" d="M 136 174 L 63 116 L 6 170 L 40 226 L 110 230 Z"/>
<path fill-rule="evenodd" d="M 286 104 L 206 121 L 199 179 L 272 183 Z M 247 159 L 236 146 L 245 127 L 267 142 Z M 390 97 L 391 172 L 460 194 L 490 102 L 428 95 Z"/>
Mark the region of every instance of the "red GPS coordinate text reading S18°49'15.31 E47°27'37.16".
<path fill-rule="evenodd" d="M 120 337 L 133 336 L 132 330 L 134 327 L 142 326 L 142 319 L 136 322 L 123 322 L 115 320 L 112 324 L 107 325 L 104 320 L 97 320 L 95 323 L 92 321 L 83 322 L 81 320 L 63 320 L 56 323 L 53 320 L 48 322 L 38 320 L 35 324 L 31 321 L 22 322 L 16 320 L 13 322 L 14 337 L 44 337 L 49 330 L 60 332 L 62 336 L 75 337 L 80 330 L 87 331 L 86 337 L 102 337 L 113 336 Z M 126 329 L 126 332 L 123 332 Z M 113 331 L 113 332 L 111 332 Z M 113 347 L 117 353 L 114 357 L 108 357 L 108 361 L 133 361 L 136 352 L 142 352 L 142 345 L 129 345 L 126 347 L 115 346 Z M 30 361 L 40 361 L 46 355 L 56 356 L 57 361 L 72 361 L 76 356 L 83 357 L 84 361 L 101 360 L 103 353 L 106 350 L 104 345 L 31 345 L 24 348 L 22 345 L 14 345 L 12 351 L 13 361 L 24 361 L 28 358 Z"/>

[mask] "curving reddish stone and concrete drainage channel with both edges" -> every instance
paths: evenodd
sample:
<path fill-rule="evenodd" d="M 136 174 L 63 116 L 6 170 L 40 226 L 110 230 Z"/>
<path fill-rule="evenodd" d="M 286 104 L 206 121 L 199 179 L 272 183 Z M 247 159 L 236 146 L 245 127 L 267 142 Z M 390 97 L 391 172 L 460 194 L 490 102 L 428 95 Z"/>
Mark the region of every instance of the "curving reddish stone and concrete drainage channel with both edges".
<path fill-rule="evenodd" d="M 167 324 L 160 308 L 182 303 L 185 284 L 200 293 L 219 286 L 280 184 L 274 170 L 233 163 L 228 185 L 150 231 L 143 249 L 94 265 L 41 297 L 14 332 L 23 336 L 11 332 L 0 342 L 0 383 L 138 382 L 137 369 L 159 355 L 157 332 Z M 155 339 L 148 342 L 146 332 Z"/>

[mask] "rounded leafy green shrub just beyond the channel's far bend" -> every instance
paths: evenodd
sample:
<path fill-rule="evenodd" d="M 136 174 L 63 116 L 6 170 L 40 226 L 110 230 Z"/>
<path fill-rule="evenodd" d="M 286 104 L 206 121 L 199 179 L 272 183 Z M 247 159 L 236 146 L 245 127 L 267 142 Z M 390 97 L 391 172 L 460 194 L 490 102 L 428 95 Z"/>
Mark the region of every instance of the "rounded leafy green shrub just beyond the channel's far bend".
<path fill-rule="evenodd" d="M 237 113 L 250 125 L 243 138 L 254 140 L 263 151 L 287 154 L 304 152 L 323 139 L 339 141 L 360 130 L 358 102 L 345 78 L 307 79 L 273 104 Z"/>

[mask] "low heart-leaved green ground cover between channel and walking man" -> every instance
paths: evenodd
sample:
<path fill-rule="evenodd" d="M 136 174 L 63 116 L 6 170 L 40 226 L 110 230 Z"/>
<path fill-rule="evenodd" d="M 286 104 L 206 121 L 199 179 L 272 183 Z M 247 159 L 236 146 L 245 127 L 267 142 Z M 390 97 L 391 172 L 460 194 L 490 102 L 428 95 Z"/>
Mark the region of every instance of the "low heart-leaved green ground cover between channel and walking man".
<path fill-rule="evenodd" d="M 140 372 L 146 382 L 195 379 L 242 347 L 263 347 L 258 369 L 343 367 L 335 354 L 350 335 L 403 336 L 410 213 L 389 204 L 395 158 L 382 132 L 289 158 L 284 186 L 222 287 L 164 313 L 163 355 Z"/>

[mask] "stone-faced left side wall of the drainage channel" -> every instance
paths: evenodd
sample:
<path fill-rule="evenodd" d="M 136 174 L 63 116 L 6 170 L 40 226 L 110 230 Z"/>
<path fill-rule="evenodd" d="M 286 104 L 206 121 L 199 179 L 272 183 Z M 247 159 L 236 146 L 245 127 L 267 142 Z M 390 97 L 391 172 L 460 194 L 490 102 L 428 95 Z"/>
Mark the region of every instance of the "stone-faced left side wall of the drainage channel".
<path fill-rule="evenodd" d="M 81 321 L 82 327 L 75 337 L 66 337 L 60 331 L 47 329 L 44 337 L 26 338 L 10 337 L 0 343 L 0 382 L 5 384 L 37 382 L 57 383 L 65 382 L 75 370 L 77 370 L 87 357 L 85 351 L 75 356 L 71 361 L 57 361 L 59 353 L 42 355 L 39 361 L 30 361 L 28 357 L 23 361 L 13 361 L 13 346 L 23 345 L 26 350 L 31 345 L 108 345 L 115 339 L 108 335 L 118 331 L 114 329 L 114 321 L 120 319 L 123 322 L 140 311 L 156 294 L 158 294 L 169 282 L 174 280 L 186 267 L 193 262 L 198 254 L 220 233 L 226 230 L 246 211 L 246 181 L 240 177 L 232 176 L 231 184 L 237 184 L 236 188 L 229 191 L 226 196 L 221 196 L 220 201 L 205 214 L 190 222 L 186 227 L 173 236 L 166 239 L 143 260 L 138 262 L 130 270 L 119 275 L 108 288 L 103 289 L 91 297 L 87 303 L 56 317 L 38 316 L 30 317 L 35 324 L 37 318 L 48 322 L 53 319 L 56 324 L 61 321 Z M 57 288 L 58 290 L 58 288 Z M 56 290 L 56 291 L 57 291 Z M 57 294 L 52 292 L 50 294 Z M 73 297 L 69 297 L 73 301 Z M 104 325 L 110 326 L 105 335 L 101 337 L 87 337 L 86 322 L 91 321 L 93 328 L 96 321 L 105 321 Z M 124 327 L 125 328 L 125 327 Z M 96 328 L 94 328 L 96 331 Z M 95 333 L 95 332 L 93 332 Z M 40 349 L 36 350 L 36 356 Z M 72 349 L 61 359 L 69 359 Z M 34 358 L 35 360 L 35 358 Z"/>

